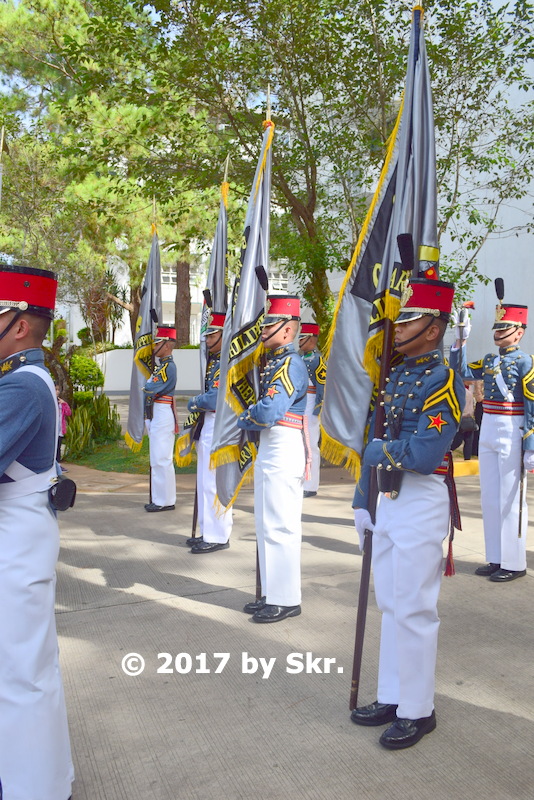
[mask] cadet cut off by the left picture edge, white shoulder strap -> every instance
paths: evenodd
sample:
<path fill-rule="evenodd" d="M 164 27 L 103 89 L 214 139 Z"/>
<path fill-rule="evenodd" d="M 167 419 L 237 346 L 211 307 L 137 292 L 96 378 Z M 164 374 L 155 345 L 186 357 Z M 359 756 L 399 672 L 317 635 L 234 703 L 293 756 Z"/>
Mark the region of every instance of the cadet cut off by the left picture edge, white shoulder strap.
<path fill-rule="evenodd" d="M 0 796 L 67 800 L 74 779 L 54 616 L 58 408 L 41 345 L 57 282 L 0 265 Z"/>

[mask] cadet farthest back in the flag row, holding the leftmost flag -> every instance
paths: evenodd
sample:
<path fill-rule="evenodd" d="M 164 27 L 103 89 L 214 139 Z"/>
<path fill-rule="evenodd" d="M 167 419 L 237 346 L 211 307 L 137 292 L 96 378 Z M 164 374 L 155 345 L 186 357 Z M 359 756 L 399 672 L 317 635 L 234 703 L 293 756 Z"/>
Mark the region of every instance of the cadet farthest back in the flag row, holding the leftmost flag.
<path fill-rule="evenodd" d="M 174 389 L 176 364 L 172 351 L 176 330 L 158 328 L 154 339 L 154 357 L 158 363 L 145 384 L 145 424 L 150 445 L 150 503 L 146 511 L 172 511 L 176 503 L 176 478 L 173 450 L 176 432 Z"/>

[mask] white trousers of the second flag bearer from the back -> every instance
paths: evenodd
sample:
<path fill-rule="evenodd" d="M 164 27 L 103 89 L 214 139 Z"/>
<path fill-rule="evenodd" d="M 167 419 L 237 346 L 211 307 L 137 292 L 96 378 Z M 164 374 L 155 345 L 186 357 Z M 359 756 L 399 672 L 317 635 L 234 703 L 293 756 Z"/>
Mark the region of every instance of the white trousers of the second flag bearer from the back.
<path fill-rule="evenodd" d="M 205 542 L 225 544 L 232 533 L 232 509 L 229 508 L 224 514 L 217 516 L 215 470 L 210 469 L 214 425 L 215 414 L 213 411 L 206 411 L 200 439 L 197 442 L 198 524 Z"/>

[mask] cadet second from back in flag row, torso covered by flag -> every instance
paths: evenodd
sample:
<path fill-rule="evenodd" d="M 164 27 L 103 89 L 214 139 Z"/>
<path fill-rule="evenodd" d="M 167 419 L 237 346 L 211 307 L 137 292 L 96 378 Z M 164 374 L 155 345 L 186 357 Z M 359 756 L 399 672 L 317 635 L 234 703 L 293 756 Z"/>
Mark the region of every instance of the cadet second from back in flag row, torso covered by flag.
<path fill-rule="evenodd" d="M 197 431 L 194 438 L 197 440 L 197 501 L 198 523 L 200 537 L 187 540 L 191 544 L 192 553 L 213 553 L 215 550 L 225 550 L 230 547 L 229 539 L 232 532 L 232 509 L 229 508 L 217 515 L 215 483 L 215 470 L 210 469 L 211 443 L 213 441 L 213 428 L 215 425 L 215 408 L 219 392 L 219 378 L 221 374 L 221 345 L 222 330 L 225 314 L 212 313 L 206 328 L 206 344 L 210 352 L 206 366 L 206 380 L 204 393 L 192 397 L 187 404 L 188 410 L 195 414 L 200 412 L 197 421 Z M 200 432 L 198 430 L 200 428 Z"/>

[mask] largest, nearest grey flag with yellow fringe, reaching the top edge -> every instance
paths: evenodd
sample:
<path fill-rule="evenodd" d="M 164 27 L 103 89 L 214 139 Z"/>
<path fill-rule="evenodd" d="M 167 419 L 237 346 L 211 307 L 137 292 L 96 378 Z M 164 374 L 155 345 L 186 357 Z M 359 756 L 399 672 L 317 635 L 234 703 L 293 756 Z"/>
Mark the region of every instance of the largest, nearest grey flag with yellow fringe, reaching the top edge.
<path fill-rule="evenodd" d="M 321 452 L 355 478 L 380 372 L 386 318 L 409 277 L 397 236 L 411 234 L 414 277 L 437 278 L 437 186 L 432 92 L 422 26 L 412 16 L 404 97 L 386 159 L 347 269 L 327 342 Z"/>

